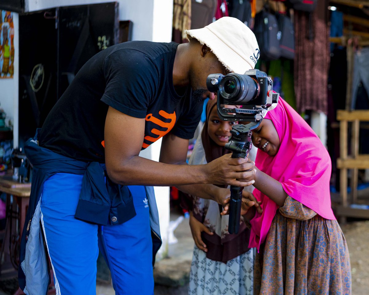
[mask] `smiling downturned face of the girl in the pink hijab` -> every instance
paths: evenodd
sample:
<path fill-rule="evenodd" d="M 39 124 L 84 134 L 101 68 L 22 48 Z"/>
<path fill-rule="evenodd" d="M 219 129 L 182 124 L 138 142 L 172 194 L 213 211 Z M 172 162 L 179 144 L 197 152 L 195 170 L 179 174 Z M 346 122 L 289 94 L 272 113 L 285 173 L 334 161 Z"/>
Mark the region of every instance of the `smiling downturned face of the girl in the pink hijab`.
<path fill-rule="evenodd" d="M 275 156 L 280 147 L 280 140 L 273 122 L 263 119 L 258 128 L 252 131 L 252 144 L 258 149 Z"/>

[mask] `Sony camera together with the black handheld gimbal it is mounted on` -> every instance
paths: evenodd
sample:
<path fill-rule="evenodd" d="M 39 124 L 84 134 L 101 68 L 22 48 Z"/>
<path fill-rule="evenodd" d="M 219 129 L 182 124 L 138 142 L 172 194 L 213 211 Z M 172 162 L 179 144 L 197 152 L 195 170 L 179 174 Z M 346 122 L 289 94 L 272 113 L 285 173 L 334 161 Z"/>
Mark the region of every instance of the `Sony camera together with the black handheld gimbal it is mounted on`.
<path fill-rule="evenodd" d="M 273 81 L 266 73 L 248 70 L 240 74 L 210 74 L 207 89 L 216 92 L 217 110 L 226 121 L 247 121 L 247 125 L 232 126 L 231 136 L 225 148 L 232 151 L 232 158 L 245 158 L 251 147 L 252 130 L 257 128 L 266 113 L 277 106 L 279 93 L 273 92 Z M 231 106 L 231 107 L 230 107 Z M 228 232 L 238 233 L 241 218 L 243 187 L 231 185 Z"/>

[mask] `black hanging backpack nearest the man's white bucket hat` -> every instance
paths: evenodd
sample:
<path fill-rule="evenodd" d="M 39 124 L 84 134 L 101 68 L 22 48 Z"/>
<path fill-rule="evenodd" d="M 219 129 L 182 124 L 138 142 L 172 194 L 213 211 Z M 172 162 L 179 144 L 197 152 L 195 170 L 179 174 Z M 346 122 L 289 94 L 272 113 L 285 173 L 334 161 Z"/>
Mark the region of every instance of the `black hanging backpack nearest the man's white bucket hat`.
<path fill-rule="evenodd" d="M 273 60 L 280 57 L 278 22 L 275 15 L 261 10 L 255 15 L 254 34 L 259 44 L 260 57 Z"/>

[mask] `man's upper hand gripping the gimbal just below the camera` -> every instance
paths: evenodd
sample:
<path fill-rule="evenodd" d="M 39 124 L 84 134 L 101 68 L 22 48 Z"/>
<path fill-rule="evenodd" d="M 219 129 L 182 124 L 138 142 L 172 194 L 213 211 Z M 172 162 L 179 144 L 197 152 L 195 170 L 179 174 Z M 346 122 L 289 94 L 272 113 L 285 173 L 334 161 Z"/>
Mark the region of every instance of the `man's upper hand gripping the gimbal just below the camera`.
<path fill-rule="evenodd" d="M 237 187 L 251 185 L 252 176 L 255 174 L 254 162 L 248 162 L 245 158 L 232 158 L 232 153 L 219 157 L 204 165 L 206 183 L 229 184 Z M 250 179 L 244 181 L 244 179 Z"/>

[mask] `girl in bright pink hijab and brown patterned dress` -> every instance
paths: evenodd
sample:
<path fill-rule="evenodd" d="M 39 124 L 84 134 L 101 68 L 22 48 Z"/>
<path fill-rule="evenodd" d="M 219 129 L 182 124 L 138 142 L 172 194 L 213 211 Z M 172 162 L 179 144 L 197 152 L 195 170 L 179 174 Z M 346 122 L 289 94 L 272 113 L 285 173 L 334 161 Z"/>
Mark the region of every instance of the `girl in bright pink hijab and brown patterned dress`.
<path fill-rule="evenodd" d="M 250 221 L 254 294 L 351 294 L 349 252 L 331 209 L 331 159 L 320 139 L 281 98 L 252 142 L 259 149 L 253 194 L 263 209 Z"/>

